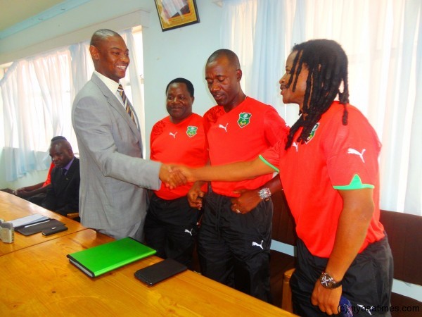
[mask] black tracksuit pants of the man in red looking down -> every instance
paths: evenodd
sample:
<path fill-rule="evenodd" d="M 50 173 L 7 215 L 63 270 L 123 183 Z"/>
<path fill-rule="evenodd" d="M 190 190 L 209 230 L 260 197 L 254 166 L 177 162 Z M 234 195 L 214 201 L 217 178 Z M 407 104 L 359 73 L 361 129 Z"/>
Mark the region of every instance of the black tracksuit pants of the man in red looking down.
<path fill-rule="evenodd" d="M 231 211 L 231 197 L 208 193 L 198 234 L 201 273 L 271 302 L 269 249 L 273 206 L 261 201 L 249 213 Z"/>

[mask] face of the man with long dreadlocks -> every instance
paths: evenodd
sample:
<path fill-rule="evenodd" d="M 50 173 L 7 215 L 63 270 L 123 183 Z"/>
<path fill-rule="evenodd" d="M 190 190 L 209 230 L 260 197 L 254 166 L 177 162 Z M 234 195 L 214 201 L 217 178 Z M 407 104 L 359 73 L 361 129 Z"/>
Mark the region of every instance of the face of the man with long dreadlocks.
<path fill-rule="evenodd" d="M 300 111 L 303 109 L 303 101 L 305 99 L 306 92 L 306 81 L 309 74 L 308 68 L 305 64 L 302 64 L 302 69 L 300 73 L 297 74 L 298 65 L 293 69 L 293 61 L 295 60 L 298 51 L 293 51 L 287 58 L 286 61 L 286 73 L 279 80 L 281 96 L 283 96 L 284 104 L 298 104 Z M 293 81 L 288 86 L 288 82 L 291 76 L 298 76 L 298 82 L 296 83 L 295 91 L 293 92 L 293 82 L 295 82 L 295 77 Z"/>

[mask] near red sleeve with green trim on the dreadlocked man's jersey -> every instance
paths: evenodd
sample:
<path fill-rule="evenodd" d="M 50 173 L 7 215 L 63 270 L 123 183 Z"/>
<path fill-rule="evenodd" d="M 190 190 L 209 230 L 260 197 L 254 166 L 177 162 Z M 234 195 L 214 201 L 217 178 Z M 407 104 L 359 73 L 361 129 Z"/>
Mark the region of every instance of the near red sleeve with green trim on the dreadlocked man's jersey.
<path fill-rule="evenodd" d="M 324 151 L 333 188 L 373 188 L 378 183 L 378 155 L 381 143 L 368 120 L 356 109 L 349 109 L 347 125 L 339 117 L 326 131 Z"/>

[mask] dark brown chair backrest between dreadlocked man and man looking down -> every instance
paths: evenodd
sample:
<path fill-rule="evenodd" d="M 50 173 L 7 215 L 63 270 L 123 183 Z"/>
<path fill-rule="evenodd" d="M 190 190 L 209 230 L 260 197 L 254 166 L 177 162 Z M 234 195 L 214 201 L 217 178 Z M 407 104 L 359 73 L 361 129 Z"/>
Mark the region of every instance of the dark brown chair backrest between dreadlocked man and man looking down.
<path fill-rule="evenodd" d="M 296 245 L 295 220 L 288 208 L 284 192 L 273 194 L 271 200 L 274 204 L 272 239 Z"/>

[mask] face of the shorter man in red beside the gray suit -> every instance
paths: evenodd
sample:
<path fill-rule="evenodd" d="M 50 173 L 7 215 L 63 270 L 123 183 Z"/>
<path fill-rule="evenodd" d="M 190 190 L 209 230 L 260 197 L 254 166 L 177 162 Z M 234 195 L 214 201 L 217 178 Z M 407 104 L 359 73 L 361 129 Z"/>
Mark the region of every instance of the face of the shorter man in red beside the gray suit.
<path fill-rule="evenodd" d="M 195 100 L 188 92 L 184 82 L 173 82 L 167 89 L 167 112 L 172 123 L 180 123 L 192 114 L 192 104 Z"/>

